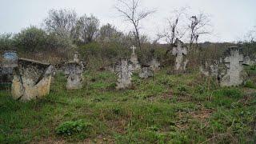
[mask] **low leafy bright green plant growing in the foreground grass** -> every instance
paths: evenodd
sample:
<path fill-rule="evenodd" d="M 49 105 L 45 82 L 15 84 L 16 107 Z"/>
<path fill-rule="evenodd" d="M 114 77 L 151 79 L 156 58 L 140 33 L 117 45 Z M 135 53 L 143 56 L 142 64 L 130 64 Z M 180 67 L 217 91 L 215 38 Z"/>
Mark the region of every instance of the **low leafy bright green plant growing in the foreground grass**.
<path fill-rule="evenodd" d="M 63 122 L 56 128 L 56 133 L 62 136 L 70 136 L 72 134 L 78 134 L 82 131 L 88 132 L 92 124 L 85 122 L 83 120 L 78 120 L 75 122 Z"/>

